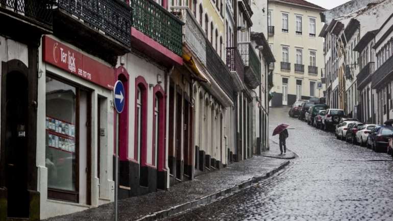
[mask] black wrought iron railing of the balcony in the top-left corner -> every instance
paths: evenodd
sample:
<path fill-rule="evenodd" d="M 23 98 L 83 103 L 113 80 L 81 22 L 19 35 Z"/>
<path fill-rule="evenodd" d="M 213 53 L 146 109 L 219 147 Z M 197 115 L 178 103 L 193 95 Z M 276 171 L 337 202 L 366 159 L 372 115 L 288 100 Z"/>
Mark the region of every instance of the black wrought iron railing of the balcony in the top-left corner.
<path fill-rule="evenodd" d="M 13 11 L 47 26 L 52 26 L 52 8 L 53 1 L 0 0 L 0 9 Z"/>

